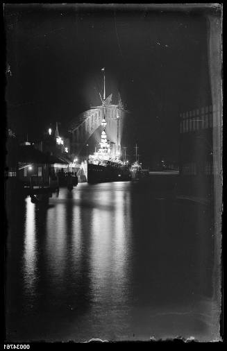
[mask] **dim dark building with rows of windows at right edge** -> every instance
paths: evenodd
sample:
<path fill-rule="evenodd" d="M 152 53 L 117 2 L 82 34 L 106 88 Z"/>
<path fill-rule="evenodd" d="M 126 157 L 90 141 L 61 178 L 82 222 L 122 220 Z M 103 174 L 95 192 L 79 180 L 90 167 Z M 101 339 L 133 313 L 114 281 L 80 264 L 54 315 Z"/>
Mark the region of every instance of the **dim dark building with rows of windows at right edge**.
<path fill-rule="evenodd" d="M 178 186 L 184 194 L 213 196 L 214 178 L 221 172 L 213 147 L 220 128 L 218 117 L 217 105 L 180 114 Z"/>

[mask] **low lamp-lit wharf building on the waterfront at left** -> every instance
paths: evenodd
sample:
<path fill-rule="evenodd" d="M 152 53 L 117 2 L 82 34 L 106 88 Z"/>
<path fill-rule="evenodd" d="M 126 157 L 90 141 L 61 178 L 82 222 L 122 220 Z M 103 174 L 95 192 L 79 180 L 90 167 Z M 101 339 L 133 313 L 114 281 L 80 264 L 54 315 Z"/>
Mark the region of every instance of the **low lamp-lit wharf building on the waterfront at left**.
<path fill-rule="evenodd" d="M 26 141 L 19 143 L 16 135 L 8 128 L 8 139 L 6 142 L 6 167 L 5 167 L 5 189 L 6 198 L 13 199 L 22 197 L 24 186 L 46 186 L 50 185 L 51 177 L 61 169 L 70 171 L 69 159 L 65 160 L 65 153 L 55 148 L 54 138 L 44 139 L 40 143 Z M 44 151 L 43 152 L 43 147 Z M 41 150 L 39 148 L 41 146 Z M 55 151 L 53 153 L 52 151 Z M 59 153 L 61 157 L 58 157 Z"/>

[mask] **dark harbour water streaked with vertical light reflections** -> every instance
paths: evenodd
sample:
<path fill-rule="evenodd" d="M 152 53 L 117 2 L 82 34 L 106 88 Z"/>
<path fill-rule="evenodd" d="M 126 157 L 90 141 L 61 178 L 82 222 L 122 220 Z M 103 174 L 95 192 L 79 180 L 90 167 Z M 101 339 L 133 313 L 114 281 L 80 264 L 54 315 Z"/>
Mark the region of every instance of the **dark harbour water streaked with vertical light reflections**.
<path fill-rule="evenodd" d="M 212 339 L 212 209 L 166 195 L 111 182 L 12 203 L 8 340 Z"/>

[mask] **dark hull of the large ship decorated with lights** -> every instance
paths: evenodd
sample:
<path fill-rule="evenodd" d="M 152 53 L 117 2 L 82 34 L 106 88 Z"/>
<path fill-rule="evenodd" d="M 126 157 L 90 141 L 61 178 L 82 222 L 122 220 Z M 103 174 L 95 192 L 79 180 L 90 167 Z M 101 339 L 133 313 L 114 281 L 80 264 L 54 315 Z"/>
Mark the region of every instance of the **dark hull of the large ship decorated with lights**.
<path fill-rule="evenodd" d="M 131 172 L 124 167 L 87 164 L 87 182 L 119 182 L 131 180 Z"/>

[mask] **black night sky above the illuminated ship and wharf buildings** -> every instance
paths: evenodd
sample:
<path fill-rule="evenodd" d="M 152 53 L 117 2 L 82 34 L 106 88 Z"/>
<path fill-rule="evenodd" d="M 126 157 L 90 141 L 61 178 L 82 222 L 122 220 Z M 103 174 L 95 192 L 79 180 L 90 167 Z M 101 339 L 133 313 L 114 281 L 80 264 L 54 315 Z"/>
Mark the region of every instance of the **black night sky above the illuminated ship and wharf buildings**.
<path fill-rule="evenodd" d="M 7 117 L 19 138 L 42 135 L 117 92 L 131 112 L 124 144 L 178 160 L 180 112 L 210 103 L 203 11 L 119 6 L 6 5 Z"/>

